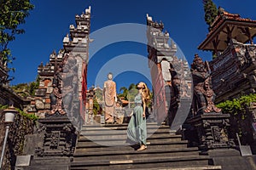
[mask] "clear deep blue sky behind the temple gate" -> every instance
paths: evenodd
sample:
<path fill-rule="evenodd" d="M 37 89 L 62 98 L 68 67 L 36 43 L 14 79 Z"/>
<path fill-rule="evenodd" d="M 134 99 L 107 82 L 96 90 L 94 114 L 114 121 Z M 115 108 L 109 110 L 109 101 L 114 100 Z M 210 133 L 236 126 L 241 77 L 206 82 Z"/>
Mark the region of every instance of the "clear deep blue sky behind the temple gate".
<path fill-rule="evenodd" d="M 255 0 L 244 0 L 242 3 L 241 0 L 213 2 L 217 7 L 221 6 L 230 13 L 256 20 Z M 62 48 L 62 39 L 69 32 L 69 25 L 75 23 L 75 14 L 82 14 L 89 6 L 91 6 L 91 32 L 120 23 L 145 25 L 146 14 L 149 14 L 153 20 L 163 21 L 165 29 L 177 42 L 189 64 L 196 53 L 203 59 L 211 60 L 211 53 L 197 49 L 207 36 L 202 0 L 32 0 L 32 3 L 35 8 L 26 19 L 26 24 L 20 26 L 26 33 L 17 36 L 15 41 L 9 44 L 16 57 L 12 65 L 16 69 L 12 74 L 15 80 L 11 84 L 34 81 L 37 77 L 38 65 L 41 62 L 44 64 L 49 62 L 49 54 L 53 50 L 58 51 Z M 95 39 L 96 41 L 101 40 Z M 147 57 L 147 48 L 137 42 L 117 42 L 102 48 L 89 62 L 88 85 L 102 86 L 101 81 L 96 81 L 98 71 L 111 59 L 127 54 Z M 132 65 L 132 62 L 136 61 L 131 61 L 127 65 Z M 147 69 L 147 63 L 142 67 Z M 102 75 L 104 73 L 105 71 Z M 123 71 L 113 76 L 118 89 L 122 86 L 127 87 L 131 82 L 148 82 L 147 76 L 136 71 Z"/>

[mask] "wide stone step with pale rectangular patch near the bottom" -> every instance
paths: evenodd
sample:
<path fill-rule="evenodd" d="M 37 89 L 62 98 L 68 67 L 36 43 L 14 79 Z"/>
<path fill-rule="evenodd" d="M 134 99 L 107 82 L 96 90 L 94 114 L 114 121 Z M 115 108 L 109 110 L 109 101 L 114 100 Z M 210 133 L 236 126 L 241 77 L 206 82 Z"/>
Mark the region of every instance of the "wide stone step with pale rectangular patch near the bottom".
<path fill-rule="evenodd" d="M 84 158 L 86 160 L 86 158 Z M 73 161 L 71 169 L 129 169 L 155 167 L 191 167 L 205 166 L 209 163 L 209 156 L 165 156 L 140 157 L 124 160 L 95 160 Z"/>

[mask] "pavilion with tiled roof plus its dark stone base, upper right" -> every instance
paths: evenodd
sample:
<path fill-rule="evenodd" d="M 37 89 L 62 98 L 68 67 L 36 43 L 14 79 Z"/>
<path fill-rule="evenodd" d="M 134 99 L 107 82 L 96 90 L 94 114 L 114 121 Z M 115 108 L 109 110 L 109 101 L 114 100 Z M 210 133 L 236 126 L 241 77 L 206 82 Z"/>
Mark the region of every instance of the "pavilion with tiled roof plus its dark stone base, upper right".
<path fill-rule="evenodd" d="M 199 49 L 217 57 L 209 62 L 216 102 L 255 93 L 256 20 L 241 18 L 218 8 L 218 17 Z"/>

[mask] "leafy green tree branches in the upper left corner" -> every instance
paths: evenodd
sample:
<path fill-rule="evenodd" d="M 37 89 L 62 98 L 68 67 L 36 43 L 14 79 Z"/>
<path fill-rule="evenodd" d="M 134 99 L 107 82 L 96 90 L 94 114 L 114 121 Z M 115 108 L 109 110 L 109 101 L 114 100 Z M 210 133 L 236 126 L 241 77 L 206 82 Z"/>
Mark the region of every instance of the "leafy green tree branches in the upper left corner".
<path fill-rule="evenodd" d="M 25 31 L 18 26 L 25 23 L 29 11 L 34 6 L 30 0 L 0 0 L 0 61 L 8 66 L 15 59 L 8 48 L 9 42 L 15 40 L 15 36 Z"/>

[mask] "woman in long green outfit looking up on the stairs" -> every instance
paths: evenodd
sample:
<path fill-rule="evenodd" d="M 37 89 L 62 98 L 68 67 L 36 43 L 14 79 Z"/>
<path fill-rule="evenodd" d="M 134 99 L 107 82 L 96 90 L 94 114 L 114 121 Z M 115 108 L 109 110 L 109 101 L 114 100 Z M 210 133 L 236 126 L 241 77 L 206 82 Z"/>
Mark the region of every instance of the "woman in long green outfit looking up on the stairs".
<path fill-rule="evenodd" d="M 137 84 L 138 94 L 134 99 L 135 107 L 133 115 L 128 124 L 127 138 L 133 142 L 139 143 L 138 150 L 146 150 L 147 144 L 147 126 L 146 126 L 146 104 L 149 100 L 149 90 L 144 82 Z"/>

